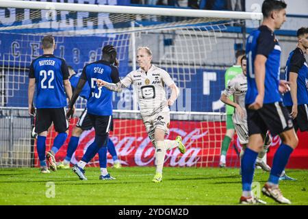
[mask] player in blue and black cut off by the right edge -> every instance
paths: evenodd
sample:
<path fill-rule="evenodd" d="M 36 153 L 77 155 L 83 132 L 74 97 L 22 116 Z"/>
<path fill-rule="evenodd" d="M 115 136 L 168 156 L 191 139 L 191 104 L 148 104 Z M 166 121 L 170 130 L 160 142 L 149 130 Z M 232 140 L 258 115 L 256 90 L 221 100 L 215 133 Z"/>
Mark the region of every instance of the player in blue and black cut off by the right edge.
<path fill-rule="evenodd" d="M 308 28 L 297 31 L 298 46 L 287 59 L 285 79 L 290 81 L 291 91 L 283 96 L 283 104 L 289 110 L 294 129 L 308 131 L 308 66 L 305 53 L 308 49 Z"/>

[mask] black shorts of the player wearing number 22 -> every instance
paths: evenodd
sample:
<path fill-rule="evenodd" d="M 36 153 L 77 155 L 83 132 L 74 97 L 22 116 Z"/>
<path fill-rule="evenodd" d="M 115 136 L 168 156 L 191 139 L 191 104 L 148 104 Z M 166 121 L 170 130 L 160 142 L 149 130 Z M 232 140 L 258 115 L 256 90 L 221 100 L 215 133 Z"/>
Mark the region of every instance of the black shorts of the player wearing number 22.
<path fill-rule="evenodd" d="M 66 132 L 68 120 L 66 120 L 64 108 L 44 108 L 36 110 L 36 133 L 48 131 L 53 123 L 55 131 Z"/>

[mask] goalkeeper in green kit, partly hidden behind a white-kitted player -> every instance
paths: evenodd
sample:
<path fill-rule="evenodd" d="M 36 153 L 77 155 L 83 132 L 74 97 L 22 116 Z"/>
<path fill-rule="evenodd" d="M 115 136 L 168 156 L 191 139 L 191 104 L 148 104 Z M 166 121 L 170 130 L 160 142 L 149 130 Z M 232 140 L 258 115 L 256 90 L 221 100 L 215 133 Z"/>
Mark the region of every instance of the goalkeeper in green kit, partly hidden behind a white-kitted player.
<path fill-rule="evenodd" d="M 241 59 L 245 55 L 244 50 L 238 50 L 235 53 L 235 58 L 236 58 L 236 64 L 231 66 L 226 70 L 226 73 L 224 74 L 224 83 L 225 83 L 225 88 L 227 88 L 227 85 L 233 77 L 236 75 L 242 75 L 242 68 L 241 68 Z M 231 101 L 233 101 L 233 95 L 229 97 Z M 232 115 L 234 113 L 234 107 L 230 105 L 226 105 L 226 112 L 227 112 L 227 120 L 226 120 L 226 134 L 224 135 L 224 140 L 222 140 L 222 145 L 221 145 L 221 151 L 220 151 L 220 162 L 219 166 L 220 167 L 225 167 L 226 166 L 226 155 L 227 151 L 229 149 L 230 142 L 234 136 L 234 125 L 232 123 Z"/>

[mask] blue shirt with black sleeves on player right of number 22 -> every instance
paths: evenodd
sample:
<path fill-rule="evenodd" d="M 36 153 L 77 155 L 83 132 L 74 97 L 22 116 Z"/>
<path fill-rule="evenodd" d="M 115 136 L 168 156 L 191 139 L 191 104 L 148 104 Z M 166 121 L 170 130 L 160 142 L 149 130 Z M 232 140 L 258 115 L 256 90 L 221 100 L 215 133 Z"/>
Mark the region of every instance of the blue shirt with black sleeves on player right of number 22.
<path fill-rule="evenodd" d="M 109 62 L 99 60 L 84 66 L 81 78 L 88 81 L 90 86 L 90 97 L 87 103 L 88 113 L 97 116 L 111 116 L 113 109 L 112 91 L 105 87 L 98 88 L 97 81 L 94 79 L 118 83 L 120 81 L 118 68 Z"/>

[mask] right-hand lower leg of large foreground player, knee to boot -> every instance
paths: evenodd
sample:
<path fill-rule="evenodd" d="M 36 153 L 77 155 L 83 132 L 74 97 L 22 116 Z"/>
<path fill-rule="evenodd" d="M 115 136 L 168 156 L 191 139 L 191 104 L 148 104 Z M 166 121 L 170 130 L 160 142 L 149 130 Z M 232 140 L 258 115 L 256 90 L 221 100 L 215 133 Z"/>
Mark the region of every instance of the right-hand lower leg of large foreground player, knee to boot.
<path fill-rule="evenodd" d="M 262 188 L 262 192 L 273 198 L 275 201 L 282 203 L 282 204 L 291 204 L 291 202 L 283 197 L 281 190 L 279 190 L 279 177 L 281 176 L 281 172 L 285 169 L 287 165 L 287 161 L 292 153 L 292 151 L 296 148 L 298 144 L 298 138 L 294 129 L 290 129 L 287 131 L 283 131 L 279 135 L 282 140 L 282 144 L 277 149 L 274 160 L 272 163 L 272 170 L 270 171 L 270 178 L 268 182 Z"/>

